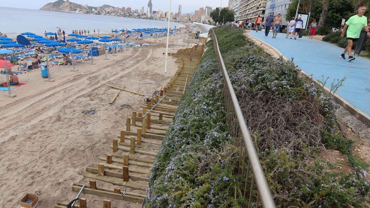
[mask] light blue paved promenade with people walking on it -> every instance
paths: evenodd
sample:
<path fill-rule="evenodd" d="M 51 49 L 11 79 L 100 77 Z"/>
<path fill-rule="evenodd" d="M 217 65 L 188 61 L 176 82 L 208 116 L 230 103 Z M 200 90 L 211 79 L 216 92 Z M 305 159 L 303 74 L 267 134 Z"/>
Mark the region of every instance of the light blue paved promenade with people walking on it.
<path fill-rule="evenodd" d="M 249 35 L 275 47 L 288 59 L 294 57 L 294 63 L 313 78 L 322 80 L 322 76 L 329 77 L 326 84 L 329 88 L 334 78 L 347 77 L 337 94 L 370 115 L 370 60 L 362 57 L 351 62 L 343 60 L 339 57 L 343 48 L 306 37 L 294 40 L 289 36 L 286 39 L 286 34 L 279 33 L 272 38 L 271 32 L 266 37 L 264 31 L 251 31 Z"/>

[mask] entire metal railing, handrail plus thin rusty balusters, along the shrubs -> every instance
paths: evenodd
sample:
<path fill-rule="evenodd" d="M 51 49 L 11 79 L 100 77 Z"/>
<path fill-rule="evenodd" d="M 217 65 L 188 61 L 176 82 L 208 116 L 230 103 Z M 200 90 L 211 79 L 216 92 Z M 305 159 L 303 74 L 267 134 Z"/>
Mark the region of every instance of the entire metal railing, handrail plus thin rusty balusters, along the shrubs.
<path fill-rule="evenodd" d="M 244 197 L 246 197 L 247 185 L 249 182 L 250 188 L 247 198 L 248 207 L 250 207 L 253 196 L 253 199 L 256 199 L 255 207 L 259 207 L 261 203 L 262 207 L 264 208 L 274 208 L 275 202 L 272 198 L 265 174 L 263 173 L 252 137 L 250 136 L 248 127 L 245 123 L 242 110 L 240 109 L 238 98 L 236 97 L 234 88 L 232 87 L 229 75 L 226 71 L 225 64 L 223 63 L 215 31 L 213 31 L 213 29 L 211 30 L 213 47 L 215 48 L 215 53 L 220 64 L 219 67 L 223 77 L 223 96 L 226 111 L 226 122 L 229 124 L 231 136 L 234 138 L 235 145 L 240 148 L 238 173 L 241 175 L 239 181 L 241 192 L 243 193 Z M 248 164 L 246 164 L 246 160 L 248 160 Z M 245 165 L 247 165 L 246 171 L 244 171 Z M 252 172 L 252 176 L 249 181 L 250 172 Z M 242 184 L 243 178 L 245 179 L 244 184 Z M 254 184 L 257 187 L 257 196 L 253 195 Z"/>

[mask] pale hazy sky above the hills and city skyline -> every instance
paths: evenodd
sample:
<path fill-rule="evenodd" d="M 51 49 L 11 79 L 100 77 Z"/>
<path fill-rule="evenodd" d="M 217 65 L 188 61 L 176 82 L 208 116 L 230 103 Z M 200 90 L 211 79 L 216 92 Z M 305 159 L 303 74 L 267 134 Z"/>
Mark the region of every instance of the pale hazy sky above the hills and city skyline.
<path fill-rule="evenodd" d="M 1 7 L 14 7 L 14 8 L 25 8 L 25 9 L 40 9 L 45 4 L 54 2 L 56 0 L 0 0 L 2 1 Z M 117 1 L 117 0 L 70 0 L 73 3 L 78 4 L 88 4 L 89 6 L 102 6 L 103 4 L 108 4 L 114 7 L 131 7 L 132 9 L 141 9 L 144 7 L 145 10 L 148 6 L 149 0 L 135 0 L 135 1 Z M 221 4 L 222 1 L 222 4 Z M 222 7 L 227 7 L 228 0 L 172 0 L 171 11 L 178 11 L 179 5 L 182 5 L 182 13 L 188 13 L 195 10 L 199 10 L 200 7 L 211 6 L 213 9 L 219 7 L 220 4 Z M 153 10 L 162 10 L 168 11 L 169 0 L 152 0 Z"/>

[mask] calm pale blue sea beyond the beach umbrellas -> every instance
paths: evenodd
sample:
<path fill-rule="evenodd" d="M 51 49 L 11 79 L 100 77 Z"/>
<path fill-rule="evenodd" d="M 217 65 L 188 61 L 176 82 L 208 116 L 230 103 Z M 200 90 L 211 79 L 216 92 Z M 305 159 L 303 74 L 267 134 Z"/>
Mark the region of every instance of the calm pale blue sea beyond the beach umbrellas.
<path fill-rule="evenodd" d="M 66 34 L 72 33 L 72 30 L 90 30 L 90 34 L 94 34 L 95 29 L 95 34 L 98 34 L 98 29 L 100 29 L 100 34 L 109 34 L 112 29 L 167 27 L 166 21 L 9 7 L 0 7 L 0 18 L 0 32 L 6 33 L 9 37 L 16 37 L 24 32 L 43 36 L 45 30 L 52 33 L 57 32 L 57 27 L 64 30 Z M 170 27 L 174 26 L 184 25 L 171 22 Z"/>

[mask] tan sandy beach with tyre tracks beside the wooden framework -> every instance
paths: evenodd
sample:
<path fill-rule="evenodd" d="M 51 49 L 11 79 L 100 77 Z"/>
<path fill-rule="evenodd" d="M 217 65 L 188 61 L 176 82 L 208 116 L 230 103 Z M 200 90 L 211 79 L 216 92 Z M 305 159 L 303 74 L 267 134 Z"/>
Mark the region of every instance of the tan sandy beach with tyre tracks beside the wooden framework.
<path fill-rule="evenodd" d="M 178 44 L 178 34 L 170 37 L 173 45 L 169 53 L 187 47 L 187 43 Z M 40 70 L 20 74 L 20 82 L 27 84 L 14 88 L 15 98 L 3 97 L 7 92 L 1 92 L 0 207 L 19 207 L 26 193 L 39 195 L 40 208 L 75 197 L 73 182 L 88 181 L 82 176 L 86 166 L 96 164 L 99 157 L 111 151 L 111 140 L 124 128 L 126 118 L 133 110 L 142 109 L 144 98 L 166 84 L 177 70 L 176 59 L 170 56 L 168 73 L 163 73 L 165 41 L 166 37 L 147 38 L 140 42 L 152 46 L 130 48 L 117 56 L 108 54 L 109 60 L 94 57 L 95 65 L 88 64 L 90 61 L 77 63 L 77 72 L 70 71 L 72 66 L 51 67 L 54 82 L 44 81 Z M 199 40 L 193 39 L 193 43 Z M 140 82 L 156 83 L 140 84 L 145 96 L 121 91 L 115 102 L 108 104 L 117 90 L 104 84 L 139 91 Z M 121 107 L 124 104 L 131 107 Z M 91 108 L 95 108 L 95 114 L 81 114 Z M 117 186 L 105 188 L 112 187 Z M 104 198 L 83 197 L 88 206 L 102 207 Z M 140 204 L 112 199 L 111 206 Z"/>

